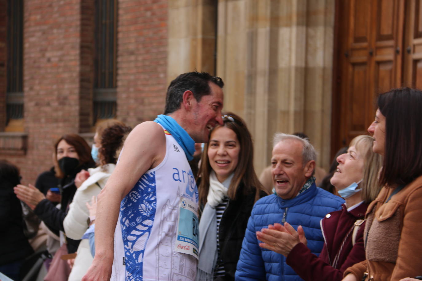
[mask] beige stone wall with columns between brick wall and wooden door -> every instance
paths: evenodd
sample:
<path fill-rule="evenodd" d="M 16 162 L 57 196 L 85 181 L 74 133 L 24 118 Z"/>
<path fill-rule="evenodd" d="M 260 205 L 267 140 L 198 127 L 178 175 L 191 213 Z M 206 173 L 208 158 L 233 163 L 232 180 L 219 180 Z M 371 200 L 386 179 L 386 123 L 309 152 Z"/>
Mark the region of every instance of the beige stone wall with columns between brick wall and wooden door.
<path fill-rule="evenodd" d="M 168 80 L 212 69 L 206 47 L 215 32 L 206 24 L 212 2 L 170 1 Z M 257 173 L 270 163 L 277 131 L 308 134 L 318 164 L 327 167 L 334 0 L 219 0 L 217 9 L 216 75 L 225 81 L 224 110 L 245 118 Z"/>

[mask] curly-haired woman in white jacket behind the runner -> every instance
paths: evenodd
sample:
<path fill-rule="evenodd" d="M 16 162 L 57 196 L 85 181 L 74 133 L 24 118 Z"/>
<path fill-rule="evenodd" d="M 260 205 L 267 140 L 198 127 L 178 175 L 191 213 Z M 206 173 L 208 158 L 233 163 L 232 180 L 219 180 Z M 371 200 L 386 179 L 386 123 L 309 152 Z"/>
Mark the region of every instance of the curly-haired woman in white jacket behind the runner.
<path fill-rule="evenodd" d="M 106 185 L 116 166 L 117 152 L 122 147 L 124 137 L 130 130 L 130 127 L 114 120 L 111 126 L 103 128 L 100 137 L 98 137 L 97 131 L 94 145 L 99 144 L 97 163 L 100 163 L 100 166 L 95 169 L 88 169 L 88 171 L 81 171 L 76 176 L 82 181 L 84 177 L 89 175 L 76 190 L 73 202 L 70 204 L 68 214 L 63 222 L 67 237 L 81 239 L 91 222 L 95 220 L 95 217 L 89 216 L 87 202 L 91 201 L 92 197 L 95 198 Z M 92 259 L 89 242 L 87 239 L 82 239 L 76 252 L 69 281 L 81 280 L 89 265 L 91 265 Z"/>

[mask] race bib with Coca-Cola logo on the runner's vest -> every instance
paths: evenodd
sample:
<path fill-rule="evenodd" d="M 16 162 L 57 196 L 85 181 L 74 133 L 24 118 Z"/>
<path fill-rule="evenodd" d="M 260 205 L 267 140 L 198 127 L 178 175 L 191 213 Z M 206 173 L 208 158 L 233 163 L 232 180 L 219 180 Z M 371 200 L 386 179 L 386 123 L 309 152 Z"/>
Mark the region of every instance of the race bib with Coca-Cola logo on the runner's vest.
<path fill-rule="evenodd" d="M 198 259 L 198 211 L 192 200 L 181 198 L 175 251 L 191 254 Z"/>

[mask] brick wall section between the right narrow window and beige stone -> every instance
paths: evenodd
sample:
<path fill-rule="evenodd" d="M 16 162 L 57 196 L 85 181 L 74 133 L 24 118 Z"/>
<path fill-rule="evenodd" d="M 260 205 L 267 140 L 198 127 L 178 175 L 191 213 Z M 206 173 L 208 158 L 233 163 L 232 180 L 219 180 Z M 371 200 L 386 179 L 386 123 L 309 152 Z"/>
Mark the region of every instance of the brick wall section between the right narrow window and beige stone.
<path fill-rule="evenodd" d="M 119 1 L 117 116 L 130 126 L 164 110 L 167 1 Z"/>

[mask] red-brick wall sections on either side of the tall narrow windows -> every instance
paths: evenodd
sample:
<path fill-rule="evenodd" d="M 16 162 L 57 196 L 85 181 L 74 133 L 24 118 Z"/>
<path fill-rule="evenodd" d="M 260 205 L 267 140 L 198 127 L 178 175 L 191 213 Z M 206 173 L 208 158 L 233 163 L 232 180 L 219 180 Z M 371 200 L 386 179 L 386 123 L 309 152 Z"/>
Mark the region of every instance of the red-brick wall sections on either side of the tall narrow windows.
<path fill-rule="evenodd" d="M 6 3 L 0 0 L 1 7 Z M 0 9 L 1 124 L 5 12 Z M 58 137 L 91 130 L 93 30 L 94 0 L 24 0 L 27 153 L 0 155 L 19 166 L 24 184 L 35 183 L 38 174 L 52 166 Z M 167 1 L 118 0 L 117 34 L 117 118 L 135 126 L 154 119 L 164 108 Z"/>

